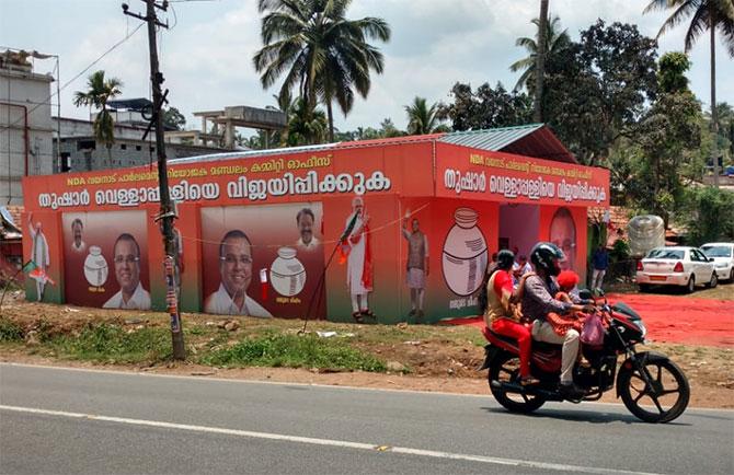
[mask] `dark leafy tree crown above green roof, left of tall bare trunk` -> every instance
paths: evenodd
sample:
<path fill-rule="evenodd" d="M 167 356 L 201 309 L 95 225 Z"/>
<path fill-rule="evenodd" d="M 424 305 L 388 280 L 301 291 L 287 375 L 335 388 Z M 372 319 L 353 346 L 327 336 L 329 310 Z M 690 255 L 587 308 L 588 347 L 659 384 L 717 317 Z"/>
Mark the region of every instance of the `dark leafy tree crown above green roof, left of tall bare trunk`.
<path fill-rule="evenodd" d="M 532 117 L 532 101 L 523 92 L 507 92 L 501 82 L 489 83 L 475 92 L 470 84 L 457 82 L 451 88 L 452 104 L 440 104 L 437 115 L 450 119 L 454 130 L 481 130 L 527 124 Z"/>

